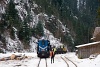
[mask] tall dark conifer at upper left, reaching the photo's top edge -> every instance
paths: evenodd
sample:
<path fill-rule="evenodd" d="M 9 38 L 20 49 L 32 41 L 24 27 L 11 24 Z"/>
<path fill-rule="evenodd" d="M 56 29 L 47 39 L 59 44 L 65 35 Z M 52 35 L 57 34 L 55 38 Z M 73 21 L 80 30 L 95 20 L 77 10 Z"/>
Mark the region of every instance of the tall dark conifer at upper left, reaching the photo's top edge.
<path fill-rule="evenodd" d="M 18 16 L 18 11 L 15 9 L 15 4 L 13 0 L 10 0 L 5 13 L 5 22 L 10 28 L 12 26 L 19 27 L 19 20 L 20 18 Z"/>

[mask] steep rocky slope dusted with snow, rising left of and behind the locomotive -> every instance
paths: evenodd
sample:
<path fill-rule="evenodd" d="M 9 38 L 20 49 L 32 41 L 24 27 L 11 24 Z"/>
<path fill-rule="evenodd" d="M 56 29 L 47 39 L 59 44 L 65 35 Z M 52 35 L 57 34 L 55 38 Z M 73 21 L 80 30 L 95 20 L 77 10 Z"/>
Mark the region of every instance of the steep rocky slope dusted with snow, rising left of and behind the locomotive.
<path fill-rule="evenodd" d="M 61 37 L 66 32 L 71 36 L 59 19 L 48 16 L 33 0 L 2 0 L 2 4 L 0 48 L 3 52 L 36 51 L 37 39 L 42 37 L 57 47 L 62 45 Z"/>

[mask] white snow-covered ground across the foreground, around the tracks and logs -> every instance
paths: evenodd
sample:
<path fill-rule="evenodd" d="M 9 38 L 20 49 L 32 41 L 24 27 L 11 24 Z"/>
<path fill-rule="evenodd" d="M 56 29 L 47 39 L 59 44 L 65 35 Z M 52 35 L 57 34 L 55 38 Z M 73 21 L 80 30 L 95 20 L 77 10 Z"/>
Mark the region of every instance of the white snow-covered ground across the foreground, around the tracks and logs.
<path fill-rule="evenodd" d="M 24 60 L 7 60 L 0 61 L 0 67 L 37 67 L 39 58 L 36 53 L 15 53 L 16 55 L 22 54 L 26 56 L 32 56 L 32 58 Z M 12 55 L 12 53 L 0 54 L 0 58 Z M 61 56 L 66 56 L 72 60 L 78 67 L 100 67 L 100 55 L 95 59 L 78 59 L 75 53 L 66 53 L 55 55 L 55 62 L 51 64 L 51 59 L 47 58 L 48 67 L 67 67 L 67 64 L 61 59 Z M 70 67 L 73 67 L 69 65 Z M 40 62 L 40 67 L 45 67 L 45 59 Z"/>

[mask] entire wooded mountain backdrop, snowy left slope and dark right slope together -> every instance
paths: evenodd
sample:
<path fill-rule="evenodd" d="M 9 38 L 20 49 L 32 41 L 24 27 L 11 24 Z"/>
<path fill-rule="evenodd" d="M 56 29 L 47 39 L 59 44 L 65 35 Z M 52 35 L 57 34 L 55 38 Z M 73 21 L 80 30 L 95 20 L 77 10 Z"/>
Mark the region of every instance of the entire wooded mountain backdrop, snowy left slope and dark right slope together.
<path fill-rule="evenodd" d="M 98 0 L 1 0 L 0 5 L 0 42 L 7 50 L 8 37 L 17 41 L 15 46 L 25 45 L 17 48 L 28 49 L 31 37 L 45 36 L 45 29 L 73 50 L 91 42 L 100 25 Z"/>

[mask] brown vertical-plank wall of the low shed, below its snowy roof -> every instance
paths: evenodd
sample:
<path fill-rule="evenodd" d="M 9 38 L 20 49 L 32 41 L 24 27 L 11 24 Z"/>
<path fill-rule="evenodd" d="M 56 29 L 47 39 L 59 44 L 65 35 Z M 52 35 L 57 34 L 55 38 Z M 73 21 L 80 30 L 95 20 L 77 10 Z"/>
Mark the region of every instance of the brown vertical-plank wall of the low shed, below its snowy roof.
<path fill-rule="evenodd" d="M 78 58 L 88 58 L 91 54 L 100 53 L 100 44 L 78 48 Z"/>

